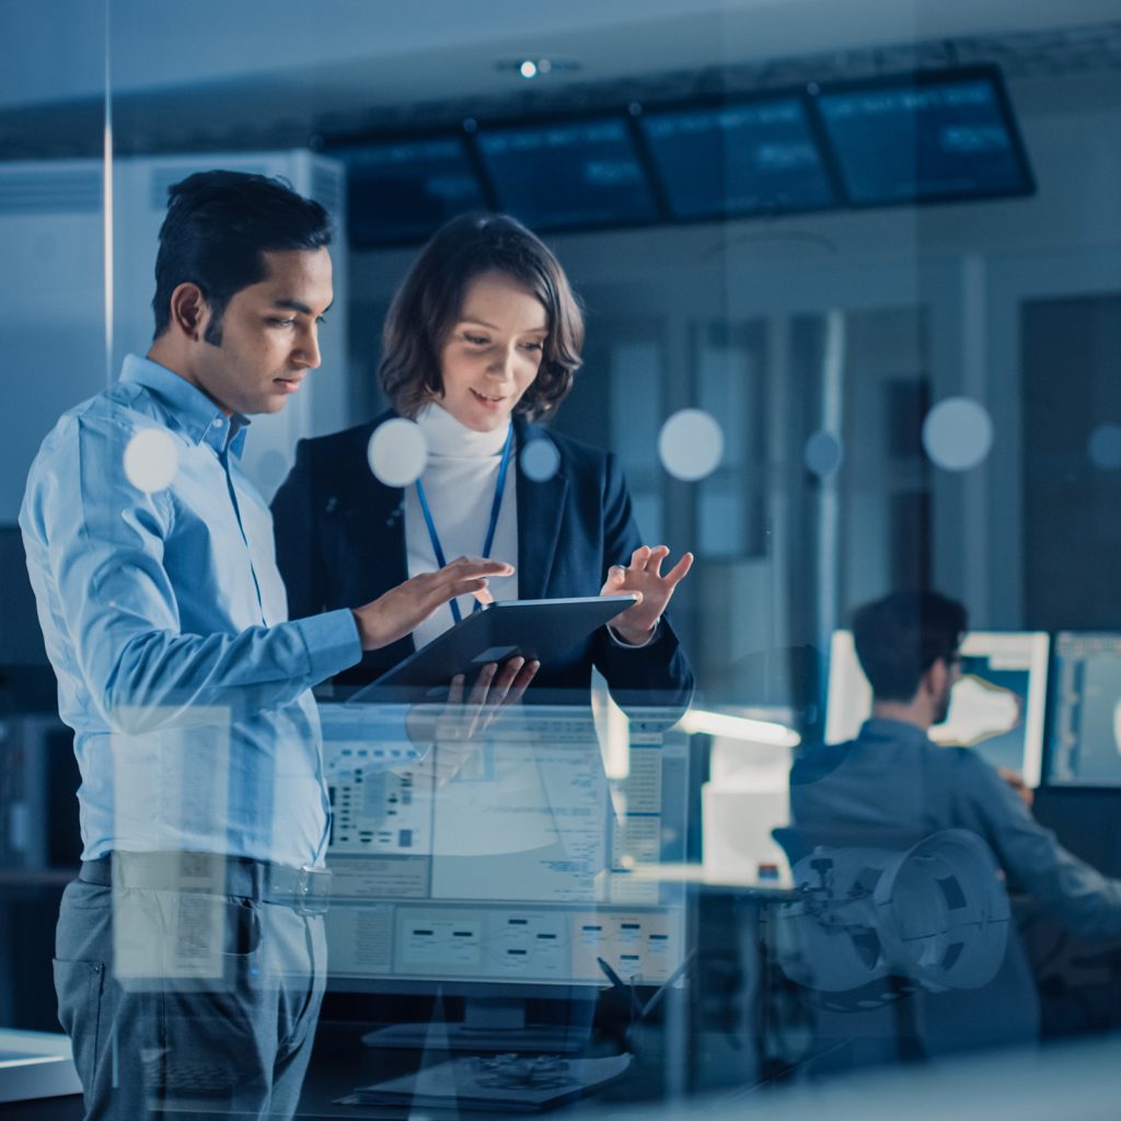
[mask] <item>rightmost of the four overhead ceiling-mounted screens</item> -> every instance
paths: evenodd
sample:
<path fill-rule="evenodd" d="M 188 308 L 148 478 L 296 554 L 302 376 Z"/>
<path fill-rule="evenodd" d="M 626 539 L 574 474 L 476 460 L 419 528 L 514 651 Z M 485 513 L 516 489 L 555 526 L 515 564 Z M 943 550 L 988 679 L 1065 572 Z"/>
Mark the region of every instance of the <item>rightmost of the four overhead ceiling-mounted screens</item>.
<path fill-rule="evenodd" d="M 853 206 L 1034 189 L 993 68 L 846 83 L 824 89 L 814 104 Z"/>

